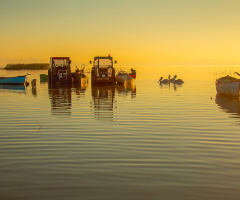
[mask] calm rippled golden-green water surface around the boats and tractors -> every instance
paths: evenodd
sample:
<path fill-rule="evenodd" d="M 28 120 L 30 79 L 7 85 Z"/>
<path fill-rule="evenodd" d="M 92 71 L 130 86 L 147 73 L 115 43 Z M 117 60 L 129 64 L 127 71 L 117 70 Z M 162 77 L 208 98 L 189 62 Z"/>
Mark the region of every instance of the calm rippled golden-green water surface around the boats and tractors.
<path fill-rule="evenodd" d="M 70 88 L 0 70 L 37 79 L 0 87 L 0 199 L 239 199 L 239 100 L 214 85 L 235 70 L 139 67 L 133 86 Z M 185 83 L 159 85 L 168 74 Z"/>

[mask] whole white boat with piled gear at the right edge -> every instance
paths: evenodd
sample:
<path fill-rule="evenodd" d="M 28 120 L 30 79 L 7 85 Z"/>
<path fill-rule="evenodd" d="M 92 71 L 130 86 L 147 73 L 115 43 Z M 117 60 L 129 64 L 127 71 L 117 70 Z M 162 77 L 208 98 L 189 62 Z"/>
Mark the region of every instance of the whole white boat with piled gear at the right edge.
<path fill-rule="evenodd" d="M 216 80 L 216 90 L 218 94 L 239 96 L 240 79 L 224 76 Z"/>

